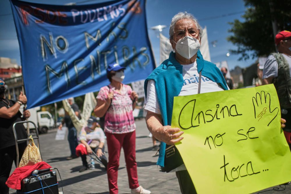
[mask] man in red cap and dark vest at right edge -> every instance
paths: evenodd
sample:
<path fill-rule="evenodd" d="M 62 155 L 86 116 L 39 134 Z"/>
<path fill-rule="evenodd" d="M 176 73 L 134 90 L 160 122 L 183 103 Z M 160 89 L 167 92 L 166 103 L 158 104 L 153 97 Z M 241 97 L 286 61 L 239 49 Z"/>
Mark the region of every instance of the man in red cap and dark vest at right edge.
<path fill-rule="evenodd" d="M 275 37 L 278 53 L 268 56 L 263 69 L 263 84 L 274 83 L 281 118 L 286 120 L 284 134 L 291 149 L 291 32 L 281 31 Z"/>

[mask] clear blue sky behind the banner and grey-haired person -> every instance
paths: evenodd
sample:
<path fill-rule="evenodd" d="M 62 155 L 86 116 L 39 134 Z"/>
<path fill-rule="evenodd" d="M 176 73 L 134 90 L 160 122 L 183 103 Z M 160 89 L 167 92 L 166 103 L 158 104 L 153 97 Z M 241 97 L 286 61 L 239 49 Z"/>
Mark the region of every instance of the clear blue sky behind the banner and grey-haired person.
<path fill-rule="evenodd" d="M 27 2 L 45 3 L 63 5 L 65 3 L 76 2 L 81 4 L 84 0 L 25 0 Z M 104 2 L 106 0 L 86 0 L 88 3 Z M 85 3 L 83 3 L 85 4 Z M 244 11 L 243 0 L 147 0 L 146 3 L 146 15 L 148 23 L 148 34 L 152 43 L 152 49 L 156 61 L 159 62 L 159 39 L 157 33 L 150 30 L 150 27 L 156 25 L 169 26 L 172 17 L 179 11 L 187 11 L 192 13 L 199 21 L 200 25 L 204 28 L 207 26 L 207 34 L 210 48 L 210 56 L 213 63 L 226 60 L 230 69 L 235 66 L 247 67 L 251 65 L 254 60 L 238 61 L 238 55 L 230 54 L 226 56 L 229 49 L 236 49 L 236 47 L 227 42 L 226 37 L 231 35 L 228 33 L 230 25 L 228 22 L 232 22 L 234 19 L 242 19 L 241 14 L 230 15 L 221 17 L 222 15 L 228 15 L 230 13 L 236 13 Z M 20 64 L 19 45 L 17 41 L 16 30 L 11 13 L 11 7 L 9 0 L 1 0 L 0 3 L 0 56 L 15 58 L 17 63 Z M 216 17 L 217 16 L 217 17 Z M 212 19 L 207 19 L 212 18 Z M 163 30 L 163 34 L 168 37 L 169 28 Z M 212 41 L 217 40 L 216 47 L 212 47 Z"/>

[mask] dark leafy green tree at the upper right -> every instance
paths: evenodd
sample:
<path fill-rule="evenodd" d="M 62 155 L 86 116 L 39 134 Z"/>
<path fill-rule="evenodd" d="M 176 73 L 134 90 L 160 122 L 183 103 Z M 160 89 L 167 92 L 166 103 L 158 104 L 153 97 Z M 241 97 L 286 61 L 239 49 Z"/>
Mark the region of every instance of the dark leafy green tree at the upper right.
<path fill-rule="evenodd" d="M 235 19 L 230 22 L 227 38 L 237 46 L 230 50 L 241 55 L 239 60 L 267 56 L 275 51 L 272 19 L 277 22 L 278 31 L 291 31 L 291 0 L 244 0 L 246 12 L 244 21 Z M 271 4 L 271 6 L 270 6 Z M 272 6 L 273 5 L 273 6 Z M 274 9 L 271 14 L 270 7 Z M 252 54 L 249 54 L 252 52 Z M 251 56 L 250 56 L 251 55 Z"/>

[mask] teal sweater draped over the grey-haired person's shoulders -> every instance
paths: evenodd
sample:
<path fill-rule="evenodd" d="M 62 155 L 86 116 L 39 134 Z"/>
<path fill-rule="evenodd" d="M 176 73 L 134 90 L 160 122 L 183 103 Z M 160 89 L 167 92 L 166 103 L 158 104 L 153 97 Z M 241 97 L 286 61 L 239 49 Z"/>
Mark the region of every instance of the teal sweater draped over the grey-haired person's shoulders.
<path fill-rule="evenodd" d="M 224 90 L 228 90 L 226 81 L 221 71 L 215 64 L 204 60 L 200 50 L 197 52 L 196 61 L 198 73 L 202 71 L 202 76 L 220 84 Z M 171 52 L 169 58 L 153 70 L 145 80 L 145 97 L 147 96 L 148 80 L 152 79 L 155 81 L 156 95 L 162 114 L 163 126 L 171 125 L 174 96 L 178 96 L 180 94 L 184 83 L 182 69 L 183 65 L 178 63 L 175 59 L 175 53 Z M 162 167 L 164 167 L 165 149 L 166 143 L 161 142 L 157 165 Z"/>

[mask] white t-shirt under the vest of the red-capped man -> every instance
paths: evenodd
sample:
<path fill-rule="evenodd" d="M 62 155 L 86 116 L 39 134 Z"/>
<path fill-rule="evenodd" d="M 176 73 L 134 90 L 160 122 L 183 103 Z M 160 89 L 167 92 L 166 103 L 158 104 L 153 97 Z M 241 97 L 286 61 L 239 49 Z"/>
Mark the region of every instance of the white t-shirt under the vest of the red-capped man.
<path fill-rule="evenodd" d="M 291 75 L 291 57 L 282 54 L 289 64 L 289 71 Z M 263 69 L 263 79 L 268 77 L 278 77 L 278 63 L 274 55 L 269 55 Z"/>

